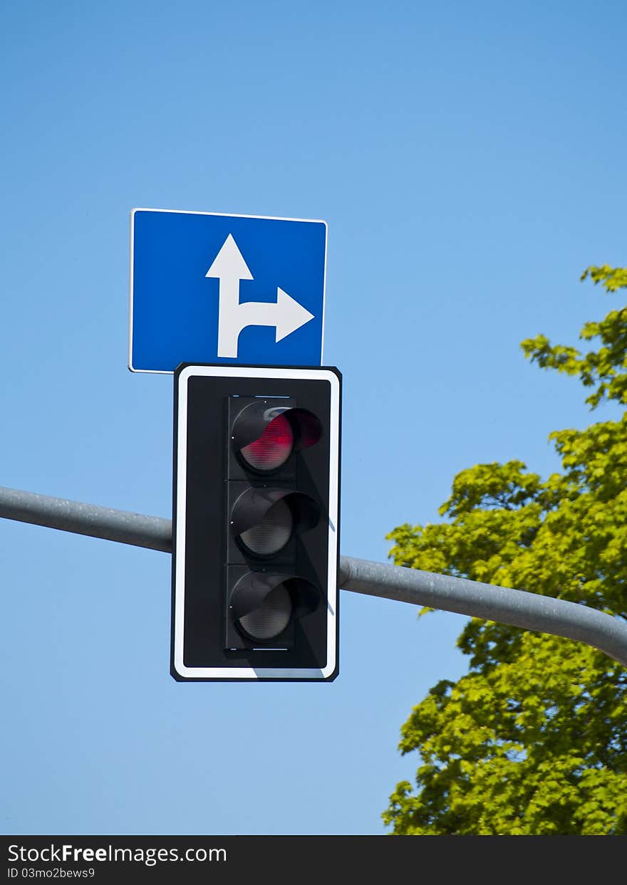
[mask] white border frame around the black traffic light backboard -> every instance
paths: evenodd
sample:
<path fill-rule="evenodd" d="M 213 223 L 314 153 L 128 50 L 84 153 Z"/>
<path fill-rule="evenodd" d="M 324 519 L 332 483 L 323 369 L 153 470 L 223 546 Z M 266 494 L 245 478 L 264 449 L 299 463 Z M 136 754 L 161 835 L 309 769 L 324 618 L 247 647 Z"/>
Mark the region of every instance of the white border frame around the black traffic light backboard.
<path fill-rule="evenodd" d="M 183 663 L 185 612 L 185 511 L 187 465 L 187 381 L 191 377 L 317 379 L 330 384 L 329 419 L 329 558 L 327 575 L 327 664 L 322 669 L 281 667 L 188 667 Z M 174 669 L 183 679 L 197 680 L 324 680 L 337 669 L 337 560 L 339 518 L 340 381 L 322 367 L 185 366 L 179 375 L 176 476 L 176 565 L 174 573 Z"/>

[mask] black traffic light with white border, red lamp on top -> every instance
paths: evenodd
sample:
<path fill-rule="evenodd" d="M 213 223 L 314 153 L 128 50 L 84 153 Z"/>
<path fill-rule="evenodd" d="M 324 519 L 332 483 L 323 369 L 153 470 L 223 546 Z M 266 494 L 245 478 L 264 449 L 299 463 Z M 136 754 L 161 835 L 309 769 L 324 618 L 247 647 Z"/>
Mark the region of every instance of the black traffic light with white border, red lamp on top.
<path fill-rule="evenodd" d="M 341 374 L 174 372 L 171 673 L 337 676 Z"/>

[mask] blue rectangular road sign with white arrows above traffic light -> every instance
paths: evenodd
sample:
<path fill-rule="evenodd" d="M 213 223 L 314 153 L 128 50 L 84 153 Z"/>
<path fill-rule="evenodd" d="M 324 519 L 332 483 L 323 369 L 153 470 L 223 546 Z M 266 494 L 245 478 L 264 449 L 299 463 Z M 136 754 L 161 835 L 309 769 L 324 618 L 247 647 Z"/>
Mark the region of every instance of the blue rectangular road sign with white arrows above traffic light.
<path fill-rule="evenodd" d="M 326 263 L 325 221 L 134 209 L 129 369 L 321 366 Z"/>

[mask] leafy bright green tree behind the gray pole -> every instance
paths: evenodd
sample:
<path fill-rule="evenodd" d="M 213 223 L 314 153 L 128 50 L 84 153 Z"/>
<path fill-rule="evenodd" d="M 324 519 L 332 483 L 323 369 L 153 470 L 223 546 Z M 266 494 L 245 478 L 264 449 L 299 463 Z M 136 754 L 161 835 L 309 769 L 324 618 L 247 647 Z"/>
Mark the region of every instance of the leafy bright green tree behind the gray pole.
<path fill-rule="evenodd" d="M 627 289 L 625 268 L 586 278 Z M 592 409 L 627 405 L 627 308 L 580 338 L 596 349 L 544 335 L 521 346 L 578 376 Z M 562 471 L 546 480 L 516 460 L 462 471 L 440 508 L 447 521 L 388 535 L 394 563 L 627 617 L 626 431 L 627 412 L 555 431 Z M 438 682 L 401 728 L 399 750 L 417 750 L 420 766 L 383 812 L 391 833 L 627 834 L 627 670 L 583 643 L 492 621 L 469 620 L 457 644 L 468 673 Z"/>

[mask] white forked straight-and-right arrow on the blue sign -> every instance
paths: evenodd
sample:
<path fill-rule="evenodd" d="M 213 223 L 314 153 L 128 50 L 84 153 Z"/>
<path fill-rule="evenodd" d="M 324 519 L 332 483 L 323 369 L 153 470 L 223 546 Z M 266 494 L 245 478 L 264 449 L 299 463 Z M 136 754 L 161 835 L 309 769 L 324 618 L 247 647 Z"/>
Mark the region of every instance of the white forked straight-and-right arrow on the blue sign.
<path fill-rule="evenodd" d="M 302 304 L 298 304 L 298 301 L 280 287 L 276 289 L 275 302 L 246 301 L 240 304 L 239 281 L 252 280 L 253 276 L 230 234 L 222 243 L 221 250 L 213 259 L 213 264 L 205 273 L 205 277 L 220 281 L 219 357 L 237 356 L 237 340 L 242 329 L 247 326 L 274 326 L 275 342 L 279 342 L 304 326 L 310 319 L 314 319 L 313 313 L 307 311 Z"/>

